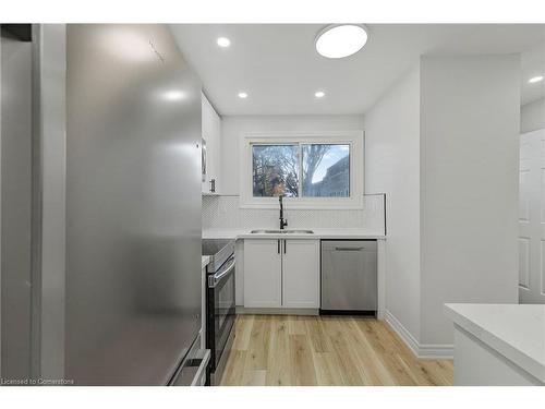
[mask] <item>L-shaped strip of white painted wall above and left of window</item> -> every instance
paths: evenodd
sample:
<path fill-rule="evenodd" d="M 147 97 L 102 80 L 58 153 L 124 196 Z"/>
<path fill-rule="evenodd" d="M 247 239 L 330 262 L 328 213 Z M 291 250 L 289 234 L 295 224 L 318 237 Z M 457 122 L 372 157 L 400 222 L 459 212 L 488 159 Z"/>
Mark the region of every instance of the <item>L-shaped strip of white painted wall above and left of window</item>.
<path fill-rule="evenodd" d="M 363 116 L 225 116 L 221 118 L 221 193 L 239 194 L 241 134 L 363 129 Z"/>

